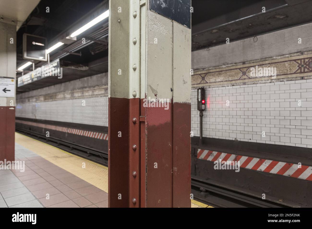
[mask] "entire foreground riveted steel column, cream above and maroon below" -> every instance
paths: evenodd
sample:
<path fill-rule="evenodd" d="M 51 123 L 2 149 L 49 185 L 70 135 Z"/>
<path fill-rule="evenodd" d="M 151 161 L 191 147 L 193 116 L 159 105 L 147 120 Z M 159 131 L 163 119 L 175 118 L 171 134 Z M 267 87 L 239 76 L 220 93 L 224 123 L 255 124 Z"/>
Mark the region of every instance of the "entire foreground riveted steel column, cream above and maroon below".
<path fill-rule="evenodd" d="M 109 23 L 109 207 L 190 207 L 191 30 L 149 0 Z"/>

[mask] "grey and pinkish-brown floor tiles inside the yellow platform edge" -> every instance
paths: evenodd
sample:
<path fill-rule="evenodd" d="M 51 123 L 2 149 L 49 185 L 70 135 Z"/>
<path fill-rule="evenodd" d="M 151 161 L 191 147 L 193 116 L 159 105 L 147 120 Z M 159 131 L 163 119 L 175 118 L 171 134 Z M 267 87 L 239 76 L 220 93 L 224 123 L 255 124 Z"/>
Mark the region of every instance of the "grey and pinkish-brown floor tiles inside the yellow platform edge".
<path fill-rule="evenodd" d="M 106 192 L 17 143 L 15 156 L 25 171 L 0 170 L 1 208 L 108 207 Z"/>

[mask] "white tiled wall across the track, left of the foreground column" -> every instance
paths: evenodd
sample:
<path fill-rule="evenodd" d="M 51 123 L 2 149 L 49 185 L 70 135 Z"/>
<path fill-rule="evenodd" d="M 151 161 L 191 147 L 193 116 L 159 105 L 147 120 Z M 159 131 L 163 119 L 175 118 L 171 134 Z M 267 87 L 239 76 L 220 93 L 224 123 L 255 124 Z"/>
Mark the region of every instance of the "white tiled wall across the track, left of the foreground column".
<path fill-rule="evenodd" d="M 108 97 L 19 103 L 16 117 L 108 126 Z"/>

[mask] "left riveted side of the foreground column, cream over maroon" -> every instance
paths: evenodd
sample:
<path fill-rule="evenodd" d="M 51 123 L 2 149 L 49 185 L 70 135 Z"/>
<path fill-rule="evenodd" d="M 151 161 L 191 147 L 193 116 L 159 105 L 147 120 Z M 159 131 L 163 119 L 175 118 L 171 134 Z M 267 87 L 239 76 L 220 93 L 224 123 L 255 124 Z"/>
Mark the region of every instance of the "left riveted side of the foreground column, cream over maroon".
<path fill-rule="evenodd" d="M 109 4 L 109 207 L 140 207 L 140 1 Z"/>

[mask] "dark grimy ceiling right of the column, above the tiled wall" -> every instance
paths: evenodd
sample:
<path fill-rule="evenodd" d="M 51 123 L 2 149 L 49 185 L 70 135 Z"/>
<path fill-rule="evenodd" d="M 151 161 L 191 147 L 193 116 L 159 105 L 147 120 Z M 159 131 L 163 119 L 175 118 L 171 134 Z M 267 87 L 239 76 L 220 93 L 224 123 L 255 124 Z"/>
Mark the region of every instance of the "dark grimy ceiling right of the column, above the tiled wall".
<path fill-rule="evenodd" d="M 312 21 L 311 0 L 242 0 L 236 5 L 233 0 L 192 2 L 194 11 L 200 9 L 192 21 L 192 50 L 225 44 L 226 38 L 236 41 Z M 224 13 L 223 7 L 232 11 Z"/>

